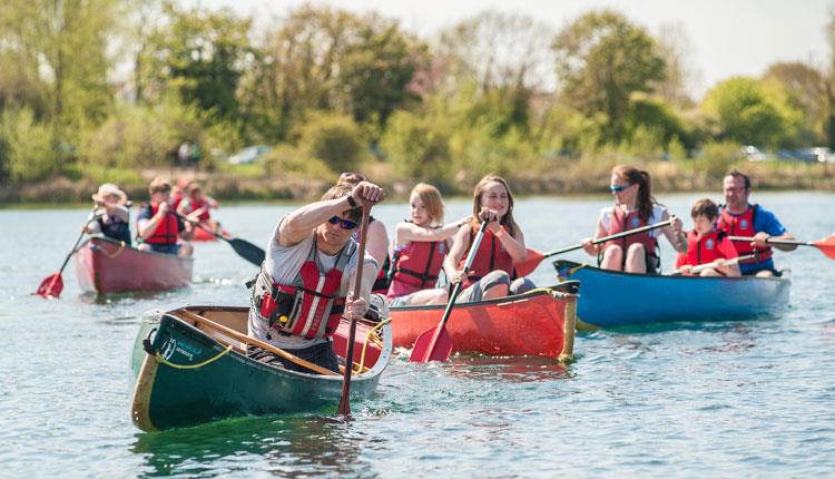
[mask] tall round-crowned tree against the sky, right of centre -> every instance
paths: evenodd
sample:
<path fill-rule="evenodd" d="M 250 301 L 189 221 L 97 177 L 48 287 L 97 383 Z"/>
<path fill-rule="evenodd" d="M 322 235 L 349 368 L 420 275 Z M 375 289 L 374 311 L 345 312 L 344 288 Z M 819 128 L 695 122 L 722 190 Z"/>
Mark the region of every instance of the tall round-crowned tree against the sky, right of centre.
<path fill-rule="evenodd" d="M 553 41 L 557 79 L 566 100 L 589 116 L 606 116 L 605 139 L 617 141 L 631 95 L 665 78 L 664 59 L 644 28 L 610 10 L 586 13 Z"/>

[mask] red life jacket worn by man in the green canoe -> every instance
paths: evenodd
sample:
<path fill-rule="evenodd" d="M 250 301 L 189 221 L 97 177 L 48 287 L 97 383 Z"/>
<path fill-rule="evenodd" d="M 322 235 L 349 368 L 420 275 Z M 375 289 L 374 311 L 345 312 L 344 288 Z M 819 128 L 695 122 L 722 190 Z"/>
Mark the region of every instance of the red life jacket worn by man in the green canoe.
<path fill-rule="evenodd" d="M 334 267 L 323 271 L 314 240 L 307 260 L 291 284 L 276 283 L 262 267 L 253 289 L 253 304 L 267 320 L 269 331 L 311 340 L 331 338 L 345 309 L 345 296 L 337 295 L 342 275 L 356 251 L 356 243 L 348 242 L 340 251 Z"/>

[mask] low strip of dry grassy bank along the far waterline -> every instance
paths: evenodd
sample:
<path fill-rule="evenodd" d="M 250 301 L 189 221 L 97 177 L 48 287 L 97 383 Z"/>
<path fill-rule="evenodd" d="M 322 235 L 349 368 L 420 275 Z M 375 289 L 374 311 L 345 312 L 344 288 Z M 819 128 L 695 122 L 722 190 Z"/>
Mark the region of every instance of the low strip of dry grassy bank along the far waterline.
<path fill-rule="evenodd" d="M 656 193 L 709 192 L 721 188 L 721 177 L 730 168 L 752 176 L 758 190 L 835 190 L 835 164 L 795 162 L 748 162 L 696 158 L 685 160 L 650 160 L 621 156 L 595 158 L 557 158 L 539 168 L 499 168 L 518 195 L 573 195 L 607 193 L 609 172 L 620 163 L 631 163 L 652 177 Z M 405 178 L 384 162 L 366 162 L 357 170 L 381 184 L 391 199 L 405 201 L 415 183 L 438 185 L 445 195 L 469 196 L 479 177 L 488 170 L 460 170 L 443 178 Z M 104 182 L 124 188 L 135 202 L 148 196 L 147 185 L 156 176 L 198 180 L 204 190 L 223 201 L 307 201 L 317 198 L 337 173 L 332 170 L 301 174 L 276 168 L 275 165 L 245 165 L 224 168 L 154 168 L 140 172 L 112 170 L 97 178 L 59 176 L 22 185 L 0 185 L 0 204 L 84 203 Z"/>

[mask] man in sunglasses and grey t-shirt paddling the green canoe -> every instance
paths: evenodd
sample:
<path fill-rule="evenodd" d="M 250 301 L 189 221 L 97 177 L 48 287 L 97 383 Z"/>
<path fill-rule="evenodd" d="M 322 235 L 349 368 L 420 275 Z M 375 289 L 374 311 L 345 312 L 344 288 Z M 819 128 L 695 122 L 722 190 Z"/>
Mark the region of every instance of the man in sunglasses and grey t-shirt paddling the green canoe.
<path fill-rule="evenodd" d="M 336 185 L 322 201 L 278 221 L 253 287 L 250 336 L 338 373 L 331 336 L 341 316 L 363 317 L 377 270 L 366 254 L 370 267 L 363 270 L 358 297 L 348 296 L 358 263 L 352 235 L 362 217 L 361 202 L 381 199 L 383 189 L 367 182 Z M 259 348 L 248 346 L 247 355 L 307 372 Z"/>

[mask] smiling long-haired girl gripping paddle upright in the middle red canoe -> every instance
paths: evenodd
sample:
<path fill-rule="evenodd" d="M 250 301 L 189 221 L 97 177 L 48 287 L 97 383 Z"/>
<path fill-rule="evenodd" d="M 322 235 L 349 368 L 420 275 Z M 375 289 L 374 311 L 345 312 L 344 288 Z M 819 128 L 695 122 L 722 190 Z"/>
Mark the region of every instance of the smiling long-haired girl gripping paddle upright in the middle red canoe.
<path fill-rule="evenodd" d="M 497 175 L 488 175 L 473 192 L 473 219 L 469 227 L 455 233 L 443 268 L 451 284 L 463 282 L 464 290 L 456 302 L 468 303 L 509 294 L 519 294 L 534 287 L 528 278 L 517 278 L 514 263 L 524 261 L 528 251 L 524 235 L 513 221 L 513 195 L 508 183 Z M 462 271 L 481 222 L 488 221 L 487 231 L 470 271 Z"/>

